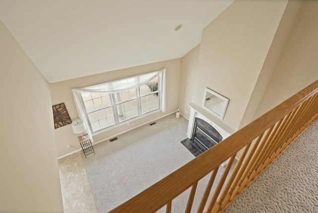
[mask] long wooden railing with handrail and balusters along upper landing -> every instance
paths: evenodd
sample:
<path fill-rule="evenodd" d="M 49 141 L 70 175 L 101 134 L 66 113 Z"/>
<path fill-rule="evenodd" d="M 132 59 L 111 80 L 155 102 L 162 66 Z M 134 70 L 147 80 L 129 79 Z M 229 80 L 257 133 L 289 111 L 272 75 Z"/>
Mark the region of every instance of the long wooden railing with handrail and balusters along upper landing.
<path fill-rule="evenodd" d="M 185 213 L 190 213 L 198 182 L 212 172 L 195 212 L 224 211 L 318 117 L 318 81 L 202 153 L 111 213 L 152 213 L 191 187 Z M 231 174 L 231 166 L 242 150 Z M 219 180 L 220 165 L 229 163 Z M 232 167 L 233 168 L 233 167 Z M 218 183 L 214 183 L 218 181 Z M 211 192 L 212 185 L 217 184 Z M 221 191 L 222 190 L 222 191 Z M 210 195 L 212 193 L 212 195 Z M 208 198 L 209 202 L 207 204 Z M 194 210 L 192 210 L 193 212 Z"/>

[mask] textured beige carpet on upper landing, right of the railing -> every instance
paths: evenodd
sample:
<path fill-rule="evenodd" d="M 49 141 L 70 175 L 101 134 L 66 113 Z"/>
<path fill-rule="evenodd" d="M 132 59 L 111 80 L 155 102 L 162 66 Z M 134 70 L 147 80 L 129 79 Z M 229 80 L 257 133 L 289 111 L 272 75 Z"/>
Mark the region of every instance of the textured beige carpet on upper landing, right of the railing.
<path fill-rule="evenodd" d="M 318 212 L 318 120 L 225 211 Z"/>

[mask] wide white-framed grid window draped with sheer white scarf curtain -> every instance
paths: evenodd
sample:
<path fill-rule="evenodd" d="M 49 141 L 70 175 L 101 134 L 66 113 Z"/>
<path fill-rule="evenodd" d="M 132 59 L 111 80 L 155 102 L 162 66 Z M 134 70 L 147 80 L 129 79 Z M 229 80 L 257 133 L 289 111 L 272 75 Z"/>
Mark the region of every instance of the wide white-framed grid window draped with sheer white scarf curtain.
<path fill-rule="evenodd" d="M 164 112 L 165 69 L 72 91 L 88 134 L 98 134 L 147 114 Z"/>

